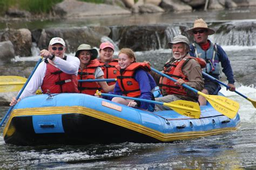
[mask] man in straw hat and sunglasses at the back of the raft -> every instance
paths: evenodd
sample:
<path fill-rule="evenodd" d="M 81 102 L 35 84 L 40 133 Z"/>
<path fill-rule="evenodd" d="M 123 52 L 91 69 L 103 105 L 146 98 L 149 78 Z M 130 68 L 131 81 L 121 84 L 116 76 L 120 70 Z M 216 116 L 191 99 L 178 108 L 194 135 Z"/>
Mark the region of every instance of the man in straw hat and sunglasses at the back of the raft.
<path fill-rule="evenodd" d="M 215 31 L 209 29 L 204 20 L 200 18 L 196 19 L 193 28 L 186 32 L 194 36 L 194 43 L 190 45 L 190 55 L 196 58 L 202 58 L 207 63 L 203 71 L 219 79 L 220 62 L 228 80 L 229 90 L 234 91 L 234 76 L 227 54 L 219 45 L 208 40 L 208 36 L 214 34 Z M 220 85 L 205 76 L 203 77 L 205 84 L 202 92 L 209 95 L 217 95 L 220 90 Z M 203 96 L 199 95 L 198 101 L 200 105 L 206 105 L 206 98 Z"/>

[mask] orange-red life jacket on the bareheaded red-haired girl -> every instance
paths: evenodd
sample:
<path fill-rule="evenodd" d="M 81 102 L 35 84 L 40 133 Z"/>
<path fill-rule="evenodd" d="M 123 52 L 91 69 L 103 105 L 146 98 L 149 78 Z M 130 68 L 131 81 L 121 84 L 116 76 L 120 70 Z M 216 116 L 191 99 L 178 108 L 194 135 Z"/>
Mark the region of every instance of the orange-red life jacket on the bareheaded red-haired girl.
<path fill-rule="evenodd" d="M 120 66 L 116 66 L 118 70 L 120 70 Z M 146 72 L 150 71 L 150 66 L 144 62 L 134 62 L 131 63 L 130 66 L 125 68 L 122 74 L 118 72 L 117 82 L 122 90 L 123 96 L 129 97 L 139 97 L 140 96 L 140 89 L 139 83 L 134 79 L 134 72 L 138 68 L 143 68 Z"/>

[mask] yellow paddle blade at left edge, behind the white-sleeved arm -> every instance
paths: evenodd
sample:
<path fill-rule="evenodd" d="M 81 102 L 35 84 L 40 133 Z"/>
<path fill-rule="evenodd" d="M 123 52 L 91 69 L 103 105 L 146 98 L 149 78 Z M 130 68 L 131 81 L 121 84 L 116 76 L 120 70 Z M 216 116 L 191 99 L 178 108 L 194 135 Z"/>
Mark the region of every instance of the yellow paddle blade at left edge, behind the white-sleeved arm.
<path fill-rule="evenodd" d="M 25 82 L 26 78 L 19 76 L 0 76 L 0 83 L 6 84 L 0 86 L 0 93 L 10 92 L 10 91 L 19 91 L 23 87 L 23 84 L 11 85 L 9 82 Z"/>

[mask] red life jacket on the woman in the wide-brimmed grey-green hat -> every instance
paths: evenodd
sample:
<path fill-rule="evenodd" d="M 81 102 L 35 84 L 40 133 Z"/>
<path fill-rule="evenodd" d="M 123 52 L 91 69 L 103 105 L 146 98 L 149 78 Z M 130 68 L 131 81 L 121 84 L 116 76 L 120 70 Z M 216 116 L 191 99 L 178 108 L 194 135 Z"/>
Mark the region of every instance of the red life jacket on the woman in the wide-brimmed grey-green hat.
<path fill-rule="evenodd" d="M 89 64 L 81 70 L 79 68 L 77 79 L 78 80 L 88 80 L 88 79 L 95 79 L 95 70 L 99 67 L 98 60 L 91 60 Z M 84 93 L 88 95 L 94 95 L 98 90 L 98 83 L 97 82 L 79 82 L 78 83 L 78 90 L 79 93 Z"/>

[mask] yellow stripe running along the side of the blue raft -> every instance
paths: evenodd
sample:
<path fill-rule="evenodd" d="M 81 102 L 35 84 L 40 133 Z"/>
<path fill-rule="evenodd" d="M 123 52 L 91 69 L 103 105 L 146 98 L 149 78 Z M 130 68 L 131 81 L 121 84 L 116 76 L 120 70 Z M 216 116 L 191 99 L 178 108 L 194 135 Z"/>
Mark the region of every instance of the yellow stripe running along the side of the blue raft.
<path fill-rule="evenodd" d="M 44 108 L 30 108 L 30 109 L 16 109 L 12 111 L 8 122 L 5 125 L 3 136 L 7 133 L 9 129 L 10 122 L 12 118 L 17 116 L 33 116 L 33 115 L 53 115 L 54 114 L 83 114 L 87 116 L 91 116 L 106 122 L 110 122 L 112 124 L 116 124 L 122 126 L 127 129 L 131 129 L 133 131 L 137 131 L 139 133 L 146 134 L 147 136 L 156 138 L 160 141 L 172 141 L 172 140 L 183 140 L 183 139 L 191 139 L 191 138 L 199 138 L 210 136 L 214 134 L 229 132 L 237 130 L 239 125 L 235 128 L 220 128 L 213 129 L 209 131 L 191 131 L 191 132 L 179 132 L 179 133 L 161 133 L 159 131 L 153 130 L 151 128 L 147 128 L 146 126 L 127 121 L 123 118 L 119 118 L 116 116 L 112 116 L 106 114 L 104 112 L 100 112 L 97 110 L 73 106 L 73 107 L 44 107 Z"/>

